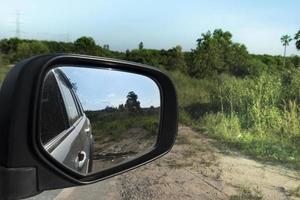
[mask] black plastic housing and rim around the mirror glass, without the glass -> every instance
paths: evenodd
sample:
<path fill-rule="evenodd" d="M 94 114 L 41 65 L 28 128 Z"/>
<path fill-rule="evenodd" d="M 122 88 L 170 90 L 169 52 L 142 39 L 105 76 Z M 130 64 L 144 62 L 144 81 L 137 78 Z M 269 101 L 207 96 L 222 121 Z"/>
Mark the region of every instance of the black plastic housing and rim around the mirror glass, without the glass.
<path fill-rule="evenodd" d="M 43 78 L 57 65 L 98 66 L 155 80 L 161 91 L 161 124 L 155 147 L 129 162 L 87 176 L 51 161 L 38 143 L 37 113 Z M 0 110 L 0 199 L 25 198 L 118 175 L 169 152 L 177 134 L 177 96 L 170 78 L 157 68 L 109 58 L 52 54 L 27 59 L 17 64 L 3 82 Z"/>

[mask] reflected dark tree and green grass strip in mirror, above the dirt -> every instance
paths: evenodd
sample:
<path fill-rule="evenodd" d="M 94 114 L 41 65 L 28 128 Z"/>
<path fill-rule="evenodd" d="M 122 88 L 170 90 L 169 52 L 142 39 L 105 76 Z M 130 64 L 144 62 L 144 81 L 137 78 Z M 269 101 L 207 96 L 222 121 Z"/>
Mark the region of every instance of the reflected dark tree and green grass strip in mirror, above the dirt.
<path fill-rule="evenodd" d="M 95 140 L 109 138 L 111 141 L 126 137 L 125 133 L 131 129 L 143 130 L 152 139 L 155 138 L 159 129 L 159 112 L 159 107 L 141 108 L 138 95 L 133 91 L 128 93 L 125 104 L 118 107 L 107 106 L 102 110 L 85 111 Z"/>

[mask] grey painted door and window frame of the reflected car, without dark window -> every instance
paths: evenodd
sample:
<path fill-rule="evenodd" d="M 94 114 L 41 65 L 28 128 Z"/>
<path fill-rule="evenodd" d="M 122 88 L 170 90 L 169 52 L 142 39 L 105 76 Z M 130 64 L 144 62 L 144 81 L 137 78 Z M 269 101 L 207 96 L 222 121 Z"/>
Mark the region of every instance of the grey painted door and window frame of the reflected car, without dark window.
<path fill-rule="evenodd" d="M 59 69 L 51 70 L 50 73 L 55 75 L 59 86 L 58 89 L 63 96 L 61 81 L 65 81 L 66 85 L 71 85 L 68 78 Z M 91 125 L 82 109 L 82 105 L 75 91 L 72 87 L 69 87 L 69 90 L 72 93 L 72 99 L 76 104 L 80 117 L 73 124 L 70 124 L 68 129 L 62 131 L 46 143 L 44 148 L 53 158 L 55 158 L 55 160 L 64 164 L 66 167 L 82 174 L 86 174 L 92 169 L 93 136 Z M 63 100 L 65 106 L 67 106 L 65 98 L 63 98 Z"/>

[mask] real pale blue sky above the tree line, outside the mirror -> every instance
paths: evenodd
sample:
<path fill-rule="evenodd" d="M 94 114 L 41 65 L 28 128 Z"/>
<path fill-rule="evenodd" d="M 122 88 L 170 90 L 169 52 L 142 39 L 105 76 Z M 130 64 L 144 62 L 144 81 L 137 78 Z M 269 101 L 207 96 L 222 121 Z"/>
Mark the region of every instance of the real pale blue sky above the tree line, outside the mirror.
<path fill-rule="evenodd" d="M 113 50 L 196 45 L 222 28 L 251 53 L 282 54 L 280 37 L 300 29 L 298 0 L 0 0 L 0 38 L 14 36 L 16 11 L 24 38 L 73 41 L 91 36 Z M 300 55 L 294 44 L 288 54 Z"/>

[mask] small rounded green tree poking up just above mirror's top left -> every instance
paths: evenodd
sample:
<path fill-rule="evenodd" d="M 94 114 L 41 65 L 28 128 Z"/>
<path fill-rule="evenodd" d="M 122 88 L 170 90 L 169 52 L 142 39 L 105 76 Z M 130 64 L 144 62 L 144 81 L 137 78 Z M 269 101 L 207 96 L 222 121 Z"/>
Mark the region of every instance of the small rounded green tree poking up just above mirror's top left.
<path fill-rule="evenodd" d="M 80 54 L 96 55 L 97 45 L 91 37 L 80 37 L 74 42 L 75 52 Z"/>

